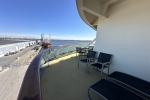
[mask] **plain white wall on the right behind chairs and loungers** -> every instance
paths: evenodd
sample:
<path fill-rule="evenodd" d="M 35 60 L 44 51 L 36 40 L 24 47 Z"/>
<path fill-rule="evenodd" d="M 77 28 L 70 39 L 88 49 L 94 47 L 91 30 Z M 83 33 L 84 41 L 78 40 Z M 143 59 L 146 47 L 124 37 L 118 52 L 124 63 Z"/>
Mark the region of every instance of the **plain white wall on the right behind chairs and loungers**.
<path fill-rule="evenodd" d="M 150 0 L 126 0 L 110 8 L 109 19 L 99 20 L 95 50 L 113 54 L 110 72 L 150 81 Z"/>

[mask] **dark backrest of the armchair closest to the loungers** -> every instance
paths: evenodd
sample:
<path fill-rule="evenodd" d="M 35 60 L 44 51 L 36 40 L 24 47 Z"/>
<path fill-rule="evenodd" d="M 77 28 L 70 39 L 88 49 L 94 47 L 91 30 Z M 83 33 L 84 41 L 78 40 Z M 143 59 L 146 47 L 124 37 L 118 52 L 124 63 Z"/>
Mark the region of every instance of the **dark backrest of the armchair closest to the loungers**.
<path fill-rule="evenodd" d="M 110 62 L 112 57 L 112 54 L 106 54 L 100 52 L 99 57 L 98 57 L 98 62 L 105 63 L 105 62 Z"/>

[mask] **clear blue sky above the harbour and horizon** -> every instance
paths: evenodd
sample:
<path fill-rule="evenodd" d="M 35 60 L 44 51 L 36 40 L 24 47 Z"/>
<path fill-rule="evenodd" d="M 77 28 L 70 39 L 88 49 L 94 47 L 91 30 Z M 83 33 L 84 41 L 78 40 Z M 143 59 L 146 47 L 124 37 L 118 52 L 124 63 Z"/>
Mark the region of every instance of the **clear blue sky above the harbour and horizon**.
<path fill-rule="evenodd" d="M 96 31 L 80 18 L 76 0 L 0 0 L 0 37 L 92 40 Z"/>

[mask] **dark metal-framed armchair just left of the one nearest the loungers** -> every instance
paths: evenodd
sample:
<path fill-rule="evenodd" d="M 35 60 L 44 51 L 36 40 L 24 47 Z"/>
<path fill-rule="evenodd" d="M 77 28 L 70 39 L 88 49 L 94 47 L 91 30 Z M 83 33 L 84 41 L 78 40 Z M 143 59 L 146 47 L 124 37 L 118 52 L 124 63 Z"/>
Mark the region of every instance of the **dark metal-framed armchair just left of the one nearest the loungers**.
<path fill-rule="evenodd" d="M 96 56 L 96 51 L 88 51 L 86 58 L 84 58 L 84 59 L 80 59 L 80 56 L 82 56 L 82 55 L 79 55 L 79 58 L 78 58 L 78 68 L 79 68 L 80 61 L 83 63 L 86 63 L 86 73 L 88 73 L 88 66 L 90 65 L 91 62 L 94 62 L 95 56 Z"/>

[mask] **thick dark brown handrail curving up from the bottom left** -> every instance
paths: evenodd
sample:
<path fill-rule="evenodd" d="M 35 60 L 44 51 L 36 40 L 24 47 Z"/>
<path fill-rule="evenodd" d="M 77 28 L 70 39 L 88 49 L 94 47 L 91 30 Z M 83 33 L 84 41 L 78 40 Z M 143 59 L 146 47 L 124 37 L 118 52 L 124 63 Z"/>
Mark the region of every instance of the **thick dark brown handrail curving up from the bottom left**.
<path fill-rule="evenodd" d="M 40 62 L 49 49 L 40 52 L 28 67 L 17 100 L 41 100 Z"/>

